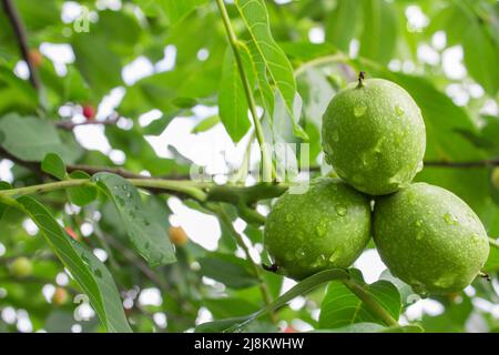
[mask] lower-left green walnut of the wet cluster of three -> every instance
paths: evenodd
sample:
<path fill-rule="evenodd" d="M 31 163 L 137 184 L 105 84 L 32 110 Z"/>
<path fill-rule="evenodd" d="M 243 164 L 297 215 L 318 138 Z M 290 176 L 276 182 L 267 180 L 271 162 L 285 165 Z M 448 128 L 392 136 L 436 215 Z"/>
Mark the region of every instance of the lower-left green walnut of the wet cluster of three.
<path fill-rule="evenodd" d="M 278 273 L 295 280 L 348 267 L 370 237 L 366 195 L 339 179 L 310 182 L 307 192 L 286 192 L 265 223 L 265 247 Z"/>

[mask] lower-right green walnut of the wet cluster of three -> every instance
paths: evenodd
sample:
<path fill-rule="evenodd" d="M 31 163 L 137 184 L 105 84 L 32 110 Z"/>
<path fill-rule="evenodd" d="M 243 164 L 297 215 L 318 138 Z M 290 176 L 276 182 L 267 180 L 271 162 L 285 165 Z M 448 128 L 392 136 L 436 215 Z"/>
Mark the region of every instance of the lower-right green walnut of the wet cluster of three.
<path fill-rule="evenodd" d="M 475 212 L 451 192 L 426 183 L 379 197 L 373 229 L 381 260 L 419 294 L 462 291 L 489 254 Z"/>

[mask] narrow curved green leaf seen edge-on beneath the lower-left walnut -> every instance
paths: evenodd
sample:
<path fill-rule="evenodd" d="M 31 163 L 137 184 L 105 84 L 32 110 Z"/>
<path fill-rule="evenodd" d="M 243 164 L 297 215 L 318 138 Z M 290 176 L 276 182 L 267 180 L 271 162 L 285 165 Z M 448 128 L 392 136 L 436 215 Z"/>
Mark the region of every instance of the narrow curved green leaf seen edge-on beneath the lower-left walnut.
<path fill-rule="evenodd" d="M 244 326 L 247 326 L 251 322 L 261 317 L 262 315 L 264 315 L 271 311 L 281 308 L 286 303 L 292 301 L 293 298 L 304 295 L 304 294 L 315 290 L 317 286 L 324 284 L 325 282 L 333 281 L 333 280 L 346 280 L 348 277 L 349 277 L 349 275 L 345 270 L 332 268 L 332 270 L 322 271 L 315 275 L 312 275 L 312 276 L 301 281 L 298 284 L 293 286 L 289 291 L 287 291 L 283 295 L 281 295 L 278 298 L 274 300 L 271 304 L 268 304 L 264 308 L 259 310 L 258 312 L 255 312 L 255 313 L 249 314 L 244 317 L 236 317 L 236 318 L 203 323 L 203 324 L 200 324 L 195 331 L 196 331 L 196 333 L 235 332 L 237 329 L 241 329 Z"/>

